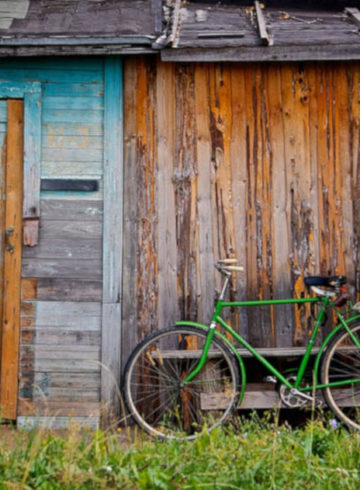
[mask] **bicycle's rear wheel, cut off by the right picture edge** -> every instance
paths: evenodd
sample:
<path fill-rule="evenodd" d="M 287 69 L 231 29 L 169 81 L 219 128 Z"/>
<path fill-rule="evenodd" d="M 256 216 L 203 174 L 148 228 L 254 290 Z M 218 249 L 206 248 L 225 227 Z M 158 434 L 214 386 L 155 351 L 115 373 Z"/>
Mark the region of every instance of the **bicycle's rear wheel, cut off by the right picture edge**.
<path fill-rule="evenodd" d="M 360 341 L 360 322 L 349 324 Z M 321 382 L 360 379 L 360 351 L 350 334 L 341 329 L 329 342 L 321 365 Z M 323 388 L 326 403 L 348 427 L 360 430 L 360 382 Z"/>

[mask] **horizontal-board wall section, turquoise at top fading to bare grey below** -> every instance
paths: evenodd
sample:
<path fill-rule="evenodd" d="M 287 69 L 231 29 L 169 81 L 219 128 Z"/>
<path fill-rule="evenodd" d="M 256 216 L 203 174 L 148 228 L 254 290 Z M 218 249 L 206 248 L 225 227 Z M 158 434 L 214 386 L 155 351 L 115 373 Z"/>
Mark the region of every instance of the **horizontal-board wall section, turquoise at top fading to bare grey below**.
<path fill-rule="evenodd" d="M 23 247 L 18 415 L 98 420 L 104 61 L 6 59 L 0 79 L 41 82 L 41 177 L 101 182 L 41 193 L 39 244 Z M 0 146 L 4 114 L 0 102 Z"/>

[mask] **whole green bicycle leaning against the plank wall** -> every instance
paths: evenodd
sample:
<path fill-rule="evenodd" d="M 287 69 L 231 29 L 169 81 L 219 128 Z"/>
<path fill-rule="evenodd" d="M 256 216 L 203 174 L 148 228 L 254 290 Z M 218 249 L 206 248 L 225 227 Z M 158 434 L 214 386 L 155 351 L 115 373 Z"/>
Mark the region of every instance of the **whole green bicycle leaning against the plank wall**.
<path fill-rule="evenodd" d="M 344 292 L 346 278 L 305 278 L 305 285 L 315 293 L 307 298 L 226 301 L 232 273 L 243 268 L 236 265 L 236 259 L 219 261 L 215 267 L 225 280 L 210 325 L 177 322 L 149 335 L 132 352 L 123 392 L 134 420 L 154 436 L 189 440 L 205 424 L 211 430 L 223 423 L 241 405 L 246 387 L 245 365 L 235 340 L 271 373 L 285 406 L 314 404 L 315 392 L 321 390 L 335 416 L 360 430 L 360 305 L 339 311 L 349 299 Z M 229 307 L 304 303 L 317 305 L 315 325 L 300 364 L 290 376 L 279 372 L 221 317 L 222 310 Z M 328 309 L 338 323 L 310 363 Z"/>

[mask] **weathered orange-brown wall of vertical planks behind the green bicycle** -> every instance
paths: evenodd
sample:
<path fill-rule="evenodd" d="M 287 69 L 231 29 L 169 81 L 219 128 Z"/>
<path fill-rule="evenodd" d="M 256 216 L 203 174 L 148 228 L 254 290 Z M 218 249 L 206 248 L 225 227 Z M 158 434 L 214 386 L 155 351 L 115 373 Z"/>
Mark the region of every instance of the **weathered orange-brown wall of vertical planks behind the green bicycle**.
<path fill-rule="evenodd" d="M 360 65 L 125 62 L 124 359 L 231 297 L 304 293 L 308 274 L 360 290 Z M 257 346 L 301 345 L 305 309 L 229 312 Z"/>

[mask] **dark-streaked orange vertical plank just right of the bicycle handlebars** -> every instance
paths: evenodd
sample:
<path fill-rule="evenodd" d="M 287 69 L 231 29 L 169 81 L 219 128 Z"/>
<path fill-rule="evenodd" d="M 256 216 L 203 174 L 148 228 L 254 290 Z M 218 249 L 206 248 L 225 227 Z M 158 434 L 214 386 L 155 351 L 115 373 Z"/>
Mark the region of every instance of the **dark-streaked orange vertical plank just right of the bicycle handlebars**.
<path fill-rule="evenodd" d="M 265 141 L 266 107 L 263 99 L 263 72 L 259 66 L 245 68 L 246 100 L 246 162 L 247 185 L 247 270 L 248 294 L 251 298 L 271 296 L 270 236 L 270 161 Z M 257 346 L 270 347 L 275 343 L 271 310 L 268 307 L 249 309 L 249 339 Z"/>

